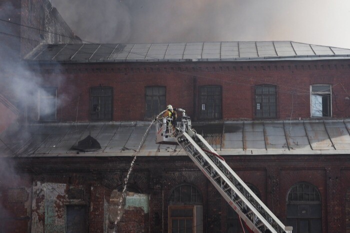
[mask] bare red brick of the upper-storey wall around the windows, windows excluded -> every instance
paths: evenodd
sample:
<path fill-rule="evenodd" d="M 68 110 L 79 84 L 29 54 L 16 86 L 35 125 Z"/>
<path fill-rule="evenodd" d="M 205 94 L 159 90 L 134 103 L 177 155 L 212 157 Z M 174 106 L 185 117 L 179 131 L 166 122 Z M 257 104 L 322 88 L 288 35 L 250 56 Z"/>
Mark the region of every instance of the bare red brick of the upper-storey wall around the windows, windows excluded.
<path fill-rule="evenodd" d="M 310 118 L 310 85 L 331 84 L 332 117 L 350 115 L 346 60 L 200 63 L 42 64 L 42 86 L 56 86 L 57 121 L 89 121 L 89 88 L 113 88 L 115 121 L 145 119 L 145 86 L 165 86 L 166 102 L 199 119 L 198 88 L 222 88 L 222 119 L 254 119 L 255 85 L 277 87 L 276 119 Z M 76 110 L 78 108 L 78 110 Z M 35 112 L 35 106 L 32 112 Z M 32 117 L 35 120 L 35 116 Z"/>

